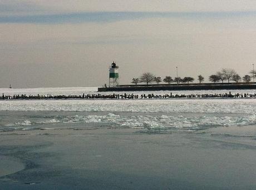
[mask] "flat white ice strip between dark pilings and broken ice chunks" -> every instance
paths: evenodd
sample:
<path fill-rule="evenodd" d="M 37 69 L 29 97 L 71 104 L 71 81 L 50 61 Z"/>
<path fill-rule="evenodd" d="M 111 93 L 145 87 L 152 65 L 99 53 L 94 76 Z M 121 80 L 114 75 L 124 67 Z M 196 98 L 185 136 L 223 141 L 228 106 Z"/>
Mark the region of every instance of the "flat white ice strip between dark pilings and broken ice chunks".
<path fill-rule="evenodd" d="M 0 101 L 0 111 L 88 111 L 256 114 L 256 99 L 166 100 L 14 100 Z M 165 114 L 163 114 L 164 116 Z M 109 115 L 116 117 L 115 114 Z"/>

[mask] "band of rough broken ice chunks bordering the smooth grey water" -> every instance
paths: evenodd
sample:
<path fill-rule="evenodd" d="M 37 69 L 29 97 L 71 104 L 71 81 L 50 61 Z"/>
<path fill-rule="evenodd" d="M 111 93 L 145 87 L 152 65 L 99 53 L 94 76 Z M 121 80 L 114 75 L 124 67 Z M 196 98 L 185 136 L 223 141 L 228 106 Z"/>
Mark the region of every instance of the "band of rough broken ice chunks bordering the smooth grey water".
<path fill-rule="evenodd" d="M 133 115 L 120 116 L 109 113 L 107 115 L 76 115 L 58 116 L 58 119 L 33 122 L 37 124 L 56 123 L 86 123 L 101 124 L 102 126 L 131 127 L 145 129 L 206 129 L 216 126 L 245 126 L 255 125 L 256 115 L 249 116 L 154 116 L 154 115 Z M 31 121 L 24 120 L 14 125 L 32 125 Z M 8 125 L 10 126 L 10 125 Z"/>

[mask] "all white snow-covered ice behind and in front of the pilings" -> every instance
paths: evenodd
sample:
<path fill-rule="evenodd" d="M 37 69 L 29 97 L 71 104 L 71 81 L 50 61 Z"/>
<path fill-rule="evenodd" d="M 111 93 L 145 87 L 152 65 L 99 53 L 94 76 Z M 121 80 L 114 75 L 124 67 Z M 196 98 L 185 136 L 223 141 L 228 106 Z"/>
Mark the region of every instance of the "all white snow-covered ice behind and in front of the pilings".
<path fill-rule="evenodd" d="M 2 91 L 11 94 L 12 89 L 2 89 Z M 41 94 L 96 93 L 96 88 L 48 88 L 38 91 Z M 36 90 L 16 89 L 12 93 L 21 92 L 35 93 Z M 198 92 L 185 91 L 185 93 Z M 205 93 L 216 93 L 216 91 Z M 227 93 L 227 91 L 218 91 L 218 93 Z M 253 93 L 253 90 L 248 93 Z M 256 99 L 3 100 L 0 101 L 0 111 L 28 112 L 28 115 L 29 112 L 36 113 L 29 117 L 19 117 L 18 121 L 2 122 L 0 130 L 22 129 L 22 127 L 32 130 L 38 129 L 38 126 L 43 124 L 55 127 L 60 124 L 79 123 L 86 124 L 85 127 L 137 127 L 145 130 L 170 131 L 232 125 L 247 126 L 256 123 Z M 45 112 L 48 112 L 47 117 L 44 116 Z"/>

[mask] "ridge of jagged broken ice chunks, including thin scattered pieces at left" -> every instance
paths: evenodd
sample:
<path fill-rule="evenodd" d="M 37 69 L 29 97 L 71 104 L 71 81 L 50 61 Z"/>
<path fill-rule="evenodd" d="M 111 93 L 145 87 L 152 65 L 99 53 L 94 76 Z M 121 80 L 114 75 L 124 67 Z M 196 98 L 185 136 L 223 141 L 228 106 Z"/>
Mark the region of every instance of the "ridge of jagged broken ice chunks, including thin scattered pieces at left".
<path fill-rule="evenodd" d="M 29 120 L 17 121 L 13 124 L 4 125 L 4 130 L 16 129 L 40 129 L 51 125 L 65 124 L 62 126 L 73 126 L 73 124 L 83 124 L 82 127 L 114 127 L 114 128 L 134 128 L 145 130 L 204 130 L 218 126 L 247 126 L 256 125 L 256 114 L 171 114 L 171 113 L 122 113 L 120 115 L 112 112 L 104 115 L 61 115 L 33 118 Z M 45 126 L 47 125 L 47 126 Z M 38 128 L 39 127 L 39 128 Z"/>

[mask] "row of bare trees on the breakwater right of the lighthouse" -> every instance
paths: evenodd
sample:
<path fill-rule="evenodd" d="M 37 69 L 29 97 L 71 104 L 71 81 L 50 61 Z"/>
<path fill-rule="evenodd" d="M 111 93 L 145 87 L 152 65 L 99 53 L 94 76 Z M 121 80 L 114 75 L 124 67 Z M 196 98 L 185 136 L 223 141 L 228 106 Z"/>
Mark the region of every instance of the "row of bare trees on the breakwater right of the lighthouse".
<path fill-rule="evenodd" d="M 221 81 L 222 83 L 224 83 L 224 81 L 227 80 L 229 83 L 230 80 L 232 80 L 238 83 L 243 79 L 245 83 L 249 83 L 252 80 L 252 78 L 255 78 L 255 77 L 256 77 L 256 71 L 254 70 L 250 71 L 249 75 L 245 75 L 243 76 L 243 78 L 241 78 L 237 74 L 237 72 L 235 72 L 235 70 L 233 69 L 221 69 L 221 71 L 218 71 L 216 74 L 210 75 L 209 81 L 213 83 L 218 83 Z M 165 83 L 168 83 L 168 84 L 171 84 L 171 83 L 177 83 L 177 84 L 188 83 L 189 84 L 194 80 L 195 79 L 190 76 L 185 76 L 184 78 L 175 77 L 174 79 L 171 78 L 171 76 L 165 76 L 165 78 L 162 80 L 160 76 L 155 76 L 150 72 L 146 72 L 146 73 L 143 73 L 140 78 L 133 78 L 131 83 L 135 85 L 137 85 L 138 83 L 146 83 L 148 85 L 153 82 L 155 82 L 156 84 L 159 84 L 161 83 L 161 81 L 164 81 Z M 199 83 L 202 83 L 204 81 L 204 77 L 202 75 L 199 75 L 198 81 Z"/>

